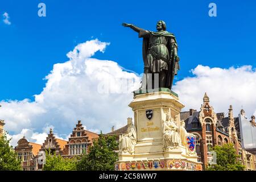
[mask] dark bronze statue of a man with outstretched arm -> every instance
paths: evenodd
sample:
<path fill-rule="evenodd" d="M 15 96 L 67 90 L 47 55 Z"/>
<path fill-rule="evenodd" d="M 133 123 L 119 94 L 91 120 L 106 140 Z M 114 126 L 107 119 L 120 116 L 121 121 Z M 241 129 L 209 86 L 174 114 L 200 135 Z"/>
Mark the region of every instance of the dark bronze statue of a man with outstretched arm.
<path fill-rule="evenodd" d="M 157 32 L 143 30 L 133 24 L 123 23 L 125 27 L 130 27 L 139 33 L 139 38 L 143 38 L 143 61 L 144 76 L 142 78 L 142 89 L 148 88 L 148 82 L 154 80 L 155 73 L 158 73 L 159 85 L 155 88 L 172 88 L 174 76 L 177 75 L 179 67 L 179 56 L 177 56 L 177 42 L 174 34 L 166 31 L 166 23 L 163 20 L 156 24 Z M 152 74 L 152 77 L 150 76 Z"/>

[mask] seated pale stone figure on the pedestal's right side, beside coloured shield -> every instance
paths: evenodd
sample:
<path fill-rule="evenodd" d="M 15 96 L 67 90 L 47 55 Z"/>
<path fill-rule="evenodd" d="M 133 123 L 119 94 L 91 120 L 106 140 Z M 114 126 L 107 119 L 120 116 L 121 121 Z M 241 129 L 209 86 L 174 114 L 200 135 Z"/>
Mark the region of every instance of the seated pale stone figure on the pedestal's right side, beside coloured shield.
<path fill-rule="evenodd" d="M 180 135 L 177 125 L 171 114 L 166 114 L 166 121 L 163 122 L 163 147 L 164 150 L 178 148 L 180 141 Z"/>

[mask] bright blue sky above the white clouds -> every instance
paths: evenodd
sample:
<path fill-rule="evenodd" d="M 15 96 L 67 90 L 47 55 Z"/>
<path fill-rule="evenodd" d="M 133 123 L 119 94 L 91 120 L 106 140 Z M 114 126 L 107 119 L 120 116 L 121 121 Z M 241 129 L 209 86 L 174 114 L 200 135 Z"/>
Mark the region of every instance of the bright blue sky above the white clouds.
<path fill-rule="evenodd" d="M 46 3 L 47 16 L 37 14 Z M 208 5 L 217 5 L 217 17 L 208 16 Z M 255 1 L 1 1 L 11 25 L 0 23 L 0 100 L 22 100 L 39 94 L 43 78 L 66 53 L 92 38 L 110 42 L 105 53 L 94 57 L 117 61 L 142 72 L 142 40 L 122 22 L 155 30 L 163 19 L 179 44 L 181 71 L 188 76 L 198 64 L 228 68 L 255 67 Z M 1 16 L 1 18 L 3 18 Z"/>

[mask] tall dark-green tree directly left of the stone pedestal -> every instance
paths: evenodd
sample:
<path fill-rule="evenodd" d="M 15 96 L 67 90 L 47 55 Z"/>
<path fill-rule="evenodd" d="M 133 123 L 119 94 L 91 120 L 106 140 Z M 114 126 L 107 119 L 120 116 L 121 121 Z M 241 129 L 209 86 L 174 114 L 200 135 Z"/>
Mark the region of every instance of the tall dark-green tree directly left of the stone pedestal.
<path fill-rule="evenodd" d="M 77 170 L 80 171 L 113 171 L 114 163 L 118 160 L 118 143 L 115 137 L 104 137 L 101 133 L 99 138 L 93 141 L 93 146 L 89 148 L 89 154 L 83 154 L 77 163 Z"/>

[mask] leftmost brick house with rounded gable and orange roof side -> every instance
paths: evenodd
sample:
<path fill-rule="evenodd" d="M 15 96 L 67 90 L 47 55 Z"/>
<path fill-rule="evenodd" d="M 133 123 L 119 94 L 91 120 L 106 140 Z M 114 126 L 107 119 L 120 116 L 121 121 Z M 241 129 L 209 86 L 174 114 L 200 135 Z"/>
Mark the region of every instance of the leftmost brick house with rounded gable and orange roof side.
<path fill-rule="evenodd" d="M 22 162 L 23 171 L 35 171 L 37 169 L 36 155 L 38 155 L 41 147 L 40 144 L 28 142 L 25 137 L 18 141 L 18 146 L 14 150 Z"/>

